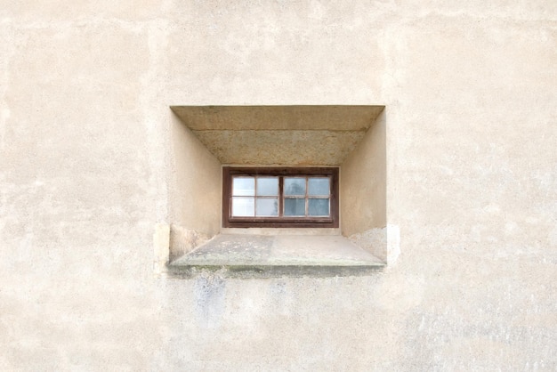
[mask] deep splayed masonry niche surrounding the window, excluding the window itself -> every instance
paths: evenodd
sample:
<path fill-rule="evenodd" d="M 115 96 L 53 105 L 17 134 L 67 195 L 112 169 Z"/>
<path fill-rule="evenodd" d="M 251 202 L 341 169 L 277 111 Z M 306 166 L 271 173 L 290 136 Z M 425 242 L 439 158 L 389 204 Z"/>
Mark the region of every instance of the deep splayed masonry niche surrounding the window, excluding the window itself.
<path fill-rule="evenodd" d="M 366 275 L 389 257 L 383 106 L 171 106 L 170 223 L 155 271 Z M 222 168 L 338 167 L 339 228 L 225 228 Z"/>

